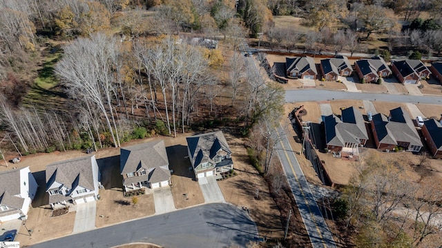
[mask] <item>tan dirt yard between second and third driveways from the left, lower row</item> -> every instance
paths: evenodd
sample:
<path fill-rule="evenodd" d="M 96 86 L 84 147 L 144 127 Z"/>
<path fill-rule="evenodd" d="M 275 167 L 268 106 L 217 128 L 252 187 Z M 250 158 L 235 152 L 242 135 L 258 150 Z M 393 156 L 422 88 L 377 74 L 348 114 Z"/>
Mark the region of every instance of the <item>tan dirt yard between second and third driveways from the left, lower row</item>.
<path fill-rule="evenodd" d="M 138 203 L 133 205 L 131 198 L 123 196 L 122 189 L 100 189 L 101 199 L 97 201 L 96 227 L 104 227 L 155 214 L 153 194 L 137 196 Z M 126 205 L 124 202 L 128 202 Z"/>

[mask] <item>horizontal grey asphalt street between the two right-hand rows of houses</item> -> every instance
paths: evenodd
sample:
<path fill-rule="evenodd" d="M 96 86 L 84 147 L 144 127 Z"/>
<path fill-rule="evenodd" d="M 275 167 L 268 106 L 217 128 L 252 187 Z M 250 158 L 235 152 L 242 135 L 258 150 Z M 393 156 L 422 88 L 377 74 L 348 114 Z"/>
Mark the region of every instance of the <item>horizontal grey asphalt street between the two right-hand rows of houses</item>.
<path fill-rule="evenodd" d="M 356 93 L 335 90 L 286 90 L 285 101 L 294 103 L 300 101 L 326 101 L 326 100 L 367 100 L 367 101 L 390 101 L 397 103 L 425 103 L 442 105 L 441 96 L 410 96 L 382 93 Z"/>

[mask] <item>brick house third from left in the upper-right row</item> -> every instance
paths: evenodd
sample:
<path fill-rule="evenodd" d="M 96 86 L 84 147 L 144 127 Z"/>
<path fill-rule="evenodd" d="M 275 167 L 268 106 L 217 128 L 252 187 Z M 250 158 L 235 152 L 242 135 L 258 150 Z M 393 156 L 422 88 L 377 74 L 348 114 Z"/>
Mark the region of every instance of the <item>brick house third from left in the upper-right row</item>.
<path fill-rule="evenodd" d="M 380 56 L 371 59 L 361 59 L 354 63 L 359 79 L 364 79 L 365 83 L 376 83 L 379 77 L 387 77 L 392 74 L 387 63 Z"/>

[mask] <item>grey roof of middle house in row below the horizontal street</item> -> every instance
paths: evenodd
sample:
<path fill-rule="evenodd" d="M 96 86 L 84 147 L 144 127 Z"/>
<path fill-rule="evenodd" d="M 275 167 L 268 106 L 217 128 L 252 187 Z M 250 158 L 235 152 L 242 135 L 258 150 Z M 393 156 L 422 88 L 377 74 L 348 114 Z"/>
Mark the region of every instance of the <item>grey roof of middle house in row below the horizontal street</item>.
<path fill-rule="evenodd" d="M 375 114 L 372 121 L 379 143 L 397 145 L 397 141 L 402 141 L 423 146 L 410 115 L 403 107 L 390 110 L 388 118 L 382 114 Z"/>

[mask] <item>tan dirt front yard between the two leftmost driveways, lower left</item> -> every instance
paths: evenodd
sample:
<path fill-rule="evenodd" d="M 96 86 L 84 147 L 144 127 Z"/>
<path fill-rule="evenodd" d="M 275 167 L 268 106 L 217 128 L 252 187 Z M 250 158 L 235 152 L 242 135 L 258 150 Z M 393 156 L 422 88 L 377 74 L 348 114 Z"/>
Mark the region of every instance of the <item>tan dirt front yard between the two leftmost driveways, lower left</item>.
<path fill-rule="evenodd" d="M 26 227 L 32 229 L 32 235 L 28 236 L 28 231 L 22 226 L 16 241 L 19 241 L 21 246 L 25 246 L 72 233 L 74 230 L 75 212 L 57 217 L 50 217 L 51 214 L 52 209 L 48 206 L 31 207 L 28 211 Z"/>

